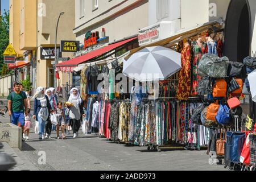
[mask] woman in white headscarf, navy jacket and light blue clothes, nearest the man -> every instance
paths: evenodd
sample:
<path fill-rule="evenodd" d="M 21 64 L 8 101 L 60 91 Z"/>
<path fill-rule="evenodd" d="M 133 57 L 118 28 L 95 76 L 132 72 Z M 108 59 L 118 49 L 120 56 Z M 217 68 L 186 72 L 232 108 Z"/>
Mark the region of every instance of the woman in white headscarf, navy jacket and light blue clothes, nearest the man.
<path fill-rule="evenodd" d="M 44 139 L 44 129 L 46 127 L 46 121 L 49 118 L 49 113 L 52 111 L 49 104 L 48 97 L 44 94 L 44 88 L 39 87 L 36 89 L 34 102 L 34 115 L 33 118 L 39 122 L 39 139 Z"/>

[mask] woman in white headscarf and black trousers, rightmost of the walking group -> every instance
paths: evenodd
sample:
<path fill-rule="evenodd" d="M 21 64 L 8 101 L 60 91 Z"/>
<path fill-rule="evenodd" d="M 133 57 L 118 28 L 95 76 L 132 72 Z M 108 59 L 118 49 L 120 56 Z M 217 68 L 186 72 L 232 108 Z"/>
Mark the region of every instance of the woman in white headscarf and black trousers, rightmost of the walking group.
<path fill-rule="evenodd" d="M 72 107 L 68 109 L 69 112 L 69 118 L 72 123 L 72 129 L 73 129 L 73 138 L 78 137 L 78 132 L 80 129 L 80 122 L 82 120 L 82 117 L 85 117 L 84 114 L 84 101 L 82 100 L 79 89 L 72 88 L 69 92 L 70 96 L 68 99 L 68 102 L 72 103 Z"/>

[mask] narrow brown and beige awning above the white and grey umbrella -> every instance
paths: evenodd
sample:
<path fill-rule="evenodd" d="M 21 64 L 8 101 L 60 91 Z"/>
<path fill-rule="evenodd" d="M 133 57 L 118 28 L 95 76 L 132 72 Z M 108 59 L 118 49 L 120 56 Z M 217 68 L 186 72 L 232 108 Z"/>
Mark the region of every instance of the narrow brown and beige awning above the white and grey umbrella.
<path fill-rule="evenodd" d="M 131 50 L 131 52 L 128 56 L 125 57 L 125 60 L 128 60 L 131 55 L 133 55 L 135 52 L 140 51 L 143 48 L 154 47 L 154 46 L 166 46 L 167 44 L 170 44 L 170 43 L 175 44 L 175 43 L 179 42 L 180 40 L 189 38 L 193 35 L 197 35 L 200 32 L 203 32 L 203 31 L 208 30 L 210 28 L 220 26 L 221 22 L 222 22 L 222 19 L 219 18 L 217 20 L 214 20 L 212 22 L 208 22 L 208 23 L 205 23 L 205 24 L 201 24 L 201 25 L 199 25 L 195 28 L 191 28 L 189 30 L 178 31 L 176 34 L 170 36 L 170 38 L 159 40 L 157 42 L 154 42 L 154 43 L 142 46 L 142 47 L 135 48 L 135 49 Z"/>

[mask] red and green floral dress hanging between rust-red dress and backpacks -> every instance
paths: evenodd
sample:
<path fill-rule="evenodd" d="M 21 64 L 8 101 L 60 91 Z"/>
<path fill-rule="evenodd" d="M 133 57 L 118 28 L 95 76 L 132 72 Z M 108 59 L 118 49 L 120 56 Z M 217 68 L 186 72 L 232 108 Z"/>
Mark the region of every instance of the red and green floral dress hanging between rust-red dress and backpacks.
<path fill-rule="evenodd" d="M 198 71 L 198 65 L 199 61 L 201 60 L 201 57 L 205 53 L 206 49 L 206 44 L 203 43 L 202 46 L 200 47 L 197 42 L 192 42 L 193 45 L 193 84 L 192 84 L 192 96 L 197 95 L 197 86 L 199 81 L 201 80 L 201 77 L 199 76 L 199 71 Z"/>

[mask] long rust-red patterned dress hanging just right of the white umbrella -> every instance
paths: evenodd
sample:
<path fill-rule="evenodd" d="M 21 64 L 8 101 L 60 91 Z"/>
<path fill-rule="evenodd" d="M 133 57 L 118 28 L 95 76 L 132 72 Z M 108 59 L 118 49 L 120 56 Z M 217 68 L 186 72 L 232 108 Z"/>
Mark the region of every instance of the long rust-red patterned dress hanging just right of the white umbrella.
<path fill-rule="evenodd" d="M 177 99 L 187 101 L 191 92 L 191 46 L 189 45 L 181 51 L 181 67 Z"/>

